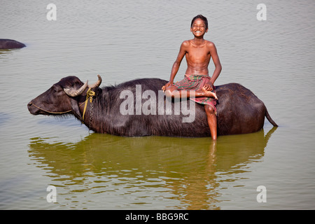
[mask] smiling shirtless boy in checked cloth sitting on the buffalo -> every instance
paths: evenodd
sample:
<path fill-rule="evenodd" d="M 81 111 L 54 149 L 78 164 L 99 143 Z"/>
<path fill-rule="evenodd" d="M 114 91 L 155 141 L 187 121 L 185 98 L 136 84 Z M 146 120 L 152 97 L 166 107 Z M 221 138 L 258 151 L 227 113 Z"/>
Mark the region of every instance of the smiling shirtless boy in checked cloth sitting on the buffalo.
<path fill-rule="evenodd" d="M 181 90 L 194 90 L 187 91 L 185 97 L 195 97 L 192 99 L 193 101 L 204 104 L 211 137 L 216 140 L 216 99 L 218 98 L 214 92 L 214 82 L 220 75 L 222 66 L 214 43 L 204 40 L 204 34 L 208 31 L 207 18 L 203 15 L 197 15 L 193 18 L 190 31 L 193 32 L 195 37 L 189 41 L 183 41 L 181 44 L 179 55 L 172 67 L 169 82 L 162 87 L 162 90 L 165 91 L 167 97 L 176 98 L 181 98 Z M 188 66 L 186 75 L 183 80 L 173 83 L 184 56 L 186 56 Z M 211 57 L 216 69 L 212 77 L 209 77 L 208 66 Z"/>

